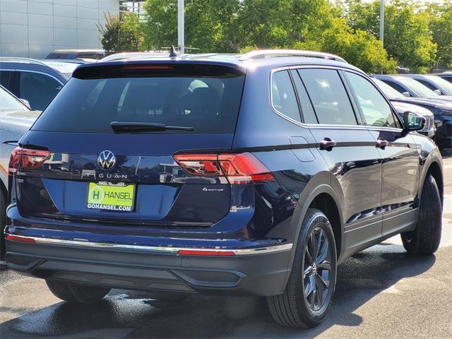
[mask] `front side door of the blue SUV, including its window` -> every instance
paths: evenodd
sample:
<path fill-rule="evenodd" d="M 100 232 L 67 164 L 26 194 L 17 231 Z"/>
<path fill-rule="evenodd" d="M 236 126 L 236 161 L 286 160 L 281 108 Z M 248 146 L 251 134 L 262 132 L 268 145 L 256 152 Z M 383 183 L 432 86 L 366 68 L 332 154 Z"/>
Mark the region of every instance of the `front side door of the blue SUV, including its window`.
<path fill-rule="evenodd" d="M 419 153 L 410 134 L 374 83 L 357 73 L 344 72 L 365 124 L 383 159 L 381 208 L 383 235 L 410 228 L 417 220 Z"/>

